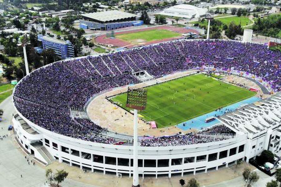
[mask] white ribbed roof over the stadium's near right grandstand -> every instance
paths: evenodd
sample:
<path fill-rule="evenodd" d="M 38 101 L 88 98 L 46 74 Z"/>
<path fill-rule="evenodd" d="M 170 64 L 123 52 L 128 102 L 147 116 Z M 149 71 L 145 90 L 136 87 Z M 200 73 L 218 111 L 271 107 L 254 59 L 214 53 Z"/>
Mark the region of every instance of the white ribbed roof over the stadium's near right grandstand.
<path fill-rule="evenodd" d="M 219 117 L 224 124 L 238 131 L 253 135 L 263 133 L 281 123 L 281 93 L 246 105 Z"/>

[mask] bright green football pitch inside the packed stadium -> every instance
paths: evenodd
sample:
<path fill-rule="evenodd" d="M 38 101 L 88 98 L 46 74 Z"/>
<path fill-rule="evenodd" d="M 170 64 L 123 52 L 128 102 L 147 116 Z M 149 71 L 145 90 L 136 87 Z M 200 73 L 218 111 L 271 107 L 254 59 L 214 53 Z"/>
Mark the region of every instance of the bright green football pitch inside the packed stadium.
<path fill-rule="evenodd" d="M 255 95 L 247 89 L 223 83 L 203 74 L 195 74 L 146 87 L 147 105 L 140 111 L 145 120 L 158 128 L 174 126 L 217 108 L 234 104 Z M 126 108 L 127 93 L 111 98 Z"/>

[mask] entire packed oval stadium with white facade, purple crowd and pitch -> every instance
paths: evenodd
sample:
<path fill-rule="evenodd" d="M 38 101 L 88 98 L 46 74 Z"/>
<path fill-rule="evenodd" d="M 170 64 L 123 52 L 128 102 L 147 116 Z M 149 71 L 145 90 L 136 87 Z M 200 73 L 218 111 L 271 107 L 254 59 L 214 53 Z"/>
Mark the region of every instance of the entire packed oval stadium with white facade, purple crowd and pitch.
<path fill-rule="evenodd" d="M 14 89 L 16 139 L 45 165 L 56 159 L 131 177 L 130 86 L 148 94 L 138 118 L 140 177 L 195 175 L 263 150 L 277 154 L 280 63 L 266 45 L 229 40 L 176 40 L 58 61 Z"/>

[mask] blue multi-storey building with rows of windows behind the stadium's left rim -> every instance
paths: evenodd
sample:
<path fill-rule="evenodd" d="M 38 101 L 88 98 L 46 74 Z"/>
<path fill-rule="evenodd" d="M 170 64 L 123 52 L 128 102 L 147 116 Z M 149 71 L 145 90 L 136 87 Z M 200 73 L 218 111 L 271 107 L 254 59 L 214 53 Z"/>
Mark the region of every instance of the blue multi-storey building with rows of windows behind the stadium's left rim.
<path fill-rule="evenodd" d="M 61 59 L 74 57 L 74 46 L 70 41 L 58 40 L 49 36 L 39 34 L 37 40 L 42 42 L 43 50 L 52 49 Z"/>

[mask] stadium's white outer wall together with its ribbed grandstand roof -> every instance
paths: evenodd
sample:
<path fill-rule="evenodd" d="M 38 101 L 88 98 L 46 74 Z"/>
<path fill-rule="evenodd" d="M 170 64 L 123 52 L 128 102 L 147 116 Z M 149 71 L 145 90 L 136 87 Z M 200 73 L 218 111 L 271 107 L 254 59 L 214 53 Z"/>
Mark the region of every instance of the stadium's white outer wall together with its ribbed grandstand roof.
<path fill-rule="evenodd" d="M 43 164 L 58 160 L 92 172 L 132 176 L 133 146 L 96 143 L 51 132 L 15 109 L 12 122 L 18 143 Z M 228 167 L 240 159 L 249 162 L 263 150 L 277 154 L 281 149 L 280 111 L 281 94 L 277 93 L 220 116 L 220 123 L 236 133 L 227 139 L 182 146 L 139 146 L 139 176 L 195 175 Z"/>

